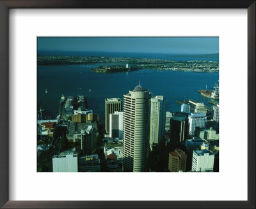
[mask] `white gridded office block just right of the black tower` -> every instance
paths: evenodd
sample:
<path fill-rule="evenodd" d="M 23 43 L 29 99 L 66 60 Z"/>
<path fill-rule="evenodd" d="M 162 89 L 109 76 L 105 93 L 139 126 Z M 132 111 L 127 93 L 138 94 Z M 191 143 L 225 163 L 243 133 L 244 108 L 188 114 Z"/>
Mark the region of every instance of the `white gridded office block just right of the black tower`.
<path fill-rule="evenodd" d="M 205 113 L 190 113 L 188 116 L 189 134 L 194 136 L 196 127 L 205 128 L 206 121 Z"/>

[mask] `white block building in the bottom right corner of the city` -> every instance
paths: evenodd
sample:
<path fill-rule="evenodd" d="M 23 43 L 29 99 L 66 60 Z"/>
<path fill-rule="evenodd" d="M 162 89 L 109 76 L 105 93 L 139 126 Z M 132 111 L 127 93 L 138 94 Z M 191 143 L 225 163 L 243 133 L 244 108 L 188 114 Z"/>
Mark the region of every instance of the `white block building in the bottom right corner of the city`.
<path fill-rule="evenodd" d="M 194 150 L 191 171 L 213 171 L 214 154 L 209 150 Z"/>

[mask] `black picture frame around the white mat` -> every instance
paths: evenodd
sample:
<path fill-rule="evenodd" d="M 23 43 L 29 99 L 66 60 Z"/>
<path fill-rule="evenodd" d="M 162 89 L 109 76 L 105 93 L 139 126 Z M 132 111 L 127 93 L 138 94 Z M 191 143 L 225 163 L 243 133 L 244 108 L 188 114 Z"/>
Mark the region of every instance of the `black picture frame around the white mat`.
<path fill-rule="evenodd" d="M 2 208 L 255 208 L 255 5 L 255 0 L 0 0 L 0 206 Z M 248 11 L 248 201 L 9 201 L 8 132 L 12 131 L 8 125 L 10 122 L 8 119 L 8 10 L 10 8 L 246 8 Z"/>

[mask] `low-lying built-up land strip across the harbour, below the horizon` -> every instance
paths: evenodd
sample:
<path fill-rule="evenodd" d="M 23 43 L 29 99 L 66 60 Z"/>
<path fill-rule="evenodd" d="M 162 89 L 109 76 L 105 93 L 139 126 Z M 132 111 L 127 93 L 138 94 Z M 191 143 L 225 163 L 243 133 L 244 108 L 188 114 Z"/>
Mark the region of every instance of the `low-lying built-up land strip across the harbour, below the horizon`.
<path fill-rule="evenodd" d="M 38 66 L 70 66 L 83 64 L 120 63 L 118 66 L 99 66 L 92 68 L 97 73 L 129 72 L 140 69 L 171 71 L 194 71 L 196 73 L 218 72 L 218 61 L 175 61 L 167 59 L 134 57 L 76 57 L 76 56 L 38 56 Z M 124 64 L 124 65 L 122 65 Z M 125 65 L 129 64 L 129 68 Z"/>

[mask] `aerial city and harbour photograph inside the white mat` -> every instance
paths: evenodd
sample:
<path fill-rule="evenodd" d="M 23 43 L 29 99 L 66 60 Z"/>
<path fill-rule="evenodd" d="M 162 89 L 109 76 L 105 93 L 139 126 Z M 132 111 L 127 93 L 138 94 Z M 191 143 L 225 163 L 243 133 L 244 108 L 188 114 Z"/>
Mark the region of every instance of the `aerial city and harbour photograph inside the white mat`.
<path fill-rule="evenodd" d="M 218 37 L 38 37 L 37 172 L 219 172 Z"/>

